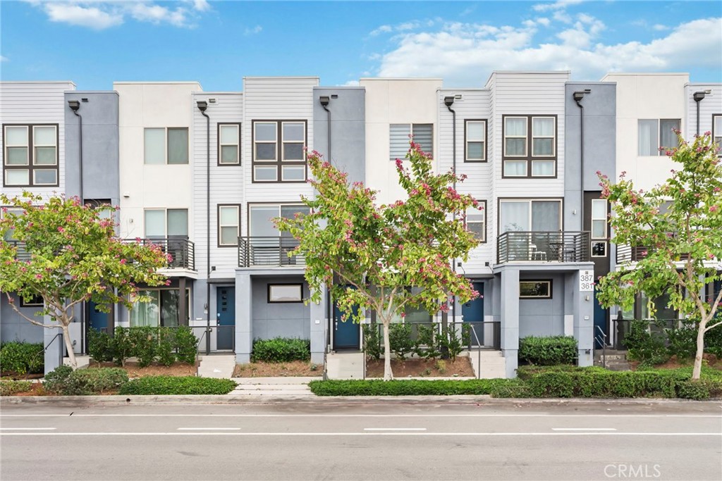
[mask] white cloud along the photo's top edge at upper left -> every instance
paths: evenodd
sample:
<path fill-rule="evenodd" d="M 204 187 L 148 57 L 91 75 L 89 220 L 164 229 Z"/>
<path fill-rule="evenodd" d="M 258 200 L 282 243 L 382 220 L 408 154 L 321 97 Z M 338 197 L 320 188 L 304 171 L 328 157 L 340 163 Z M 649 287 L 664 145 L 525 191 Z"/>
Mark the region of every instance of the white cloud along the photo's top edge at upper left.
<path fill-rule="evenodd" d="M 183 2 L 155 1 L 113 1 L 113 0 L 73 0 L 39 1 L 30 0 L 30 4 L 43 10 L 51 22 L 61 22 L 93 30 L 121 25 L 126 18 L 153 25 L 168 24 L 175 27 L 194 27 L 194 21 L 200 12 L 211 9 L 206 0 L 185 0 Z"/>

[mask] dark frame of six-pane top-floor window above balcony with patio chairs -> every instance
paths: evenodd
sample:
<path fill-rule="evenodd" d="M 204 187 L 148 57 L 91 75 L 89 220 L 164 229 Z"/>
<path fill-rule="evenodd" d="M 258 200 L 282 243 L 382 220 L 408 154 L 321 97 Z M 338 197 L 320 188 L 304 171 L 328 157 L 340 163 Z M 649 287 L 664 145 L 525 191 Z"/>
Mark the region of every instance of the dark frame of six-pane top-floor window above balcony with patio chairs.
<path fill-rule="evenodd" d="M 508 134 L 507 121 L 513 119 L 526 120 L 525 130 L 523 134 Z M 536 123 L 534 120 L 549 119 L 552 121 L 552 133 L 551 135 L 546 133 L 539 133 L 535 127 Z M 503 179 L 555 179 L 557 178 L 557 143 L 559 138 L 559 123 L 558 116 L 554 114 L 523 114 L 523 115 L 502 115 L 502 178 Z M 523 153 L 511 154 L 507 149 L 507 140 L 520 140 L 523 139 Z M 537 144 L 541 141 L 551 139 L 551 154 L 534 154 Z M 552 163 L 551 174 L 539 174 L 535 173 L 535 168 L 543 164 Z M 521 165 L 523 163 L 523 173 L 521 174 L 510 174 L 507 173 L 507 166 L 513 164 Z"/>

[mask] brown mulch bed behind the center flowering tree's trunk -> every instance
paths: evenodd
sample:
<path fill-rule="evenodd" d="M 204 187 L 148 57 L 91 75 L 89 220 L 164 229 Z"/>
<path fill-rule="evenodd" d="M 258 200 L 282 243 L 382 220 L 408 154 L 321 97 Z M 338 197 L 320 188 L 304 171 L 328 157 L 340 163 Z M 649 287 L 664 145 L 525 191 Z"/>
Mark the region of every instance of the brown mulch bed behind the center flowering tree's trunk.
<path fill-rule="evenodd" d="M 393 377 L 474 377 L 474 369 L 468 357 L 451 359 L 391 359 Z M 366 361 L 366 377 L 383 377 L 383 359 Z"/>

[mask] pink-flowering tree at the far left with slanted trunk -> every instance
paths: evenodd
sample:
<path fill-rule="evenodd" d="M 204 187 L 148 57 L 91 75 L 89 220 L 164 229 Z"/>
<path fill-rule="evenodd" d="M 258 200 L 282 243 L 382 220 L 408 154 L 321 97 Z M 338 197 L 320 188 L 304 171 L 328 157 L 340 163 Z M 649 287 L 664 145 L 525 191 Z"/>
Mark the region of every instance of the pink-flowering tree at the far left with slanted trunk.
<path fill-rule="evenodd" d="M 19 198 L 0 195 L 0 292 L 7 295 L 17 314 L 34 325 L 61 329 L 73 367 L 77 367 L 68 326 L 74 308 L 94 301 L 99 309 L 111 304 L 132 306 L 138 296 L 136 283 L 159 286 L 167 283 L 157 273 L 168 258 L 155 245 L 121 242 L 115 225 L 101 213 L 112 206 L 81 206 L 77 198 L 23 193 Z M 15 305 L 12 293 L 25 301 L 43 298 L 43 309 L 33 319 Z"/>

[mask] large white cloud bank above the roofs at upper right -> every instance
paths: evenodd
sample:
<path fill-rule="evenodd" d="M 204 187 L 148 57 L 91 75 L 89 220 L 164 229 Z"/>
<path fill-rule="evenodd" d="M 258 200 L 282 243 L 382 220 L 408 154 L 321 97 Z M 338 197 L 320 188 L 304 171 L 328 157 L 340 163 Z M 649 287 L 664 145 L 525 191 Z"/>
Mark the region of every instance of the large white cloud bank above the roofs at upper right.
<path fill-rule="evenodd" d="M 697 19 L 648 43 L 605 45 L 604 23 L 588 15 L 557 35 L 536 43 L 536 26 L 495 27 L 450 23 L 436 32 L 414 32 L 391 39 L 379 76 L 435 76 L 445 84 L 482 85 L 494 70 L 571 70 L 578 79 L 600 79 L 612 71 L 685 71 L 692 66 L 720 68 L 722 18 Z"/>

